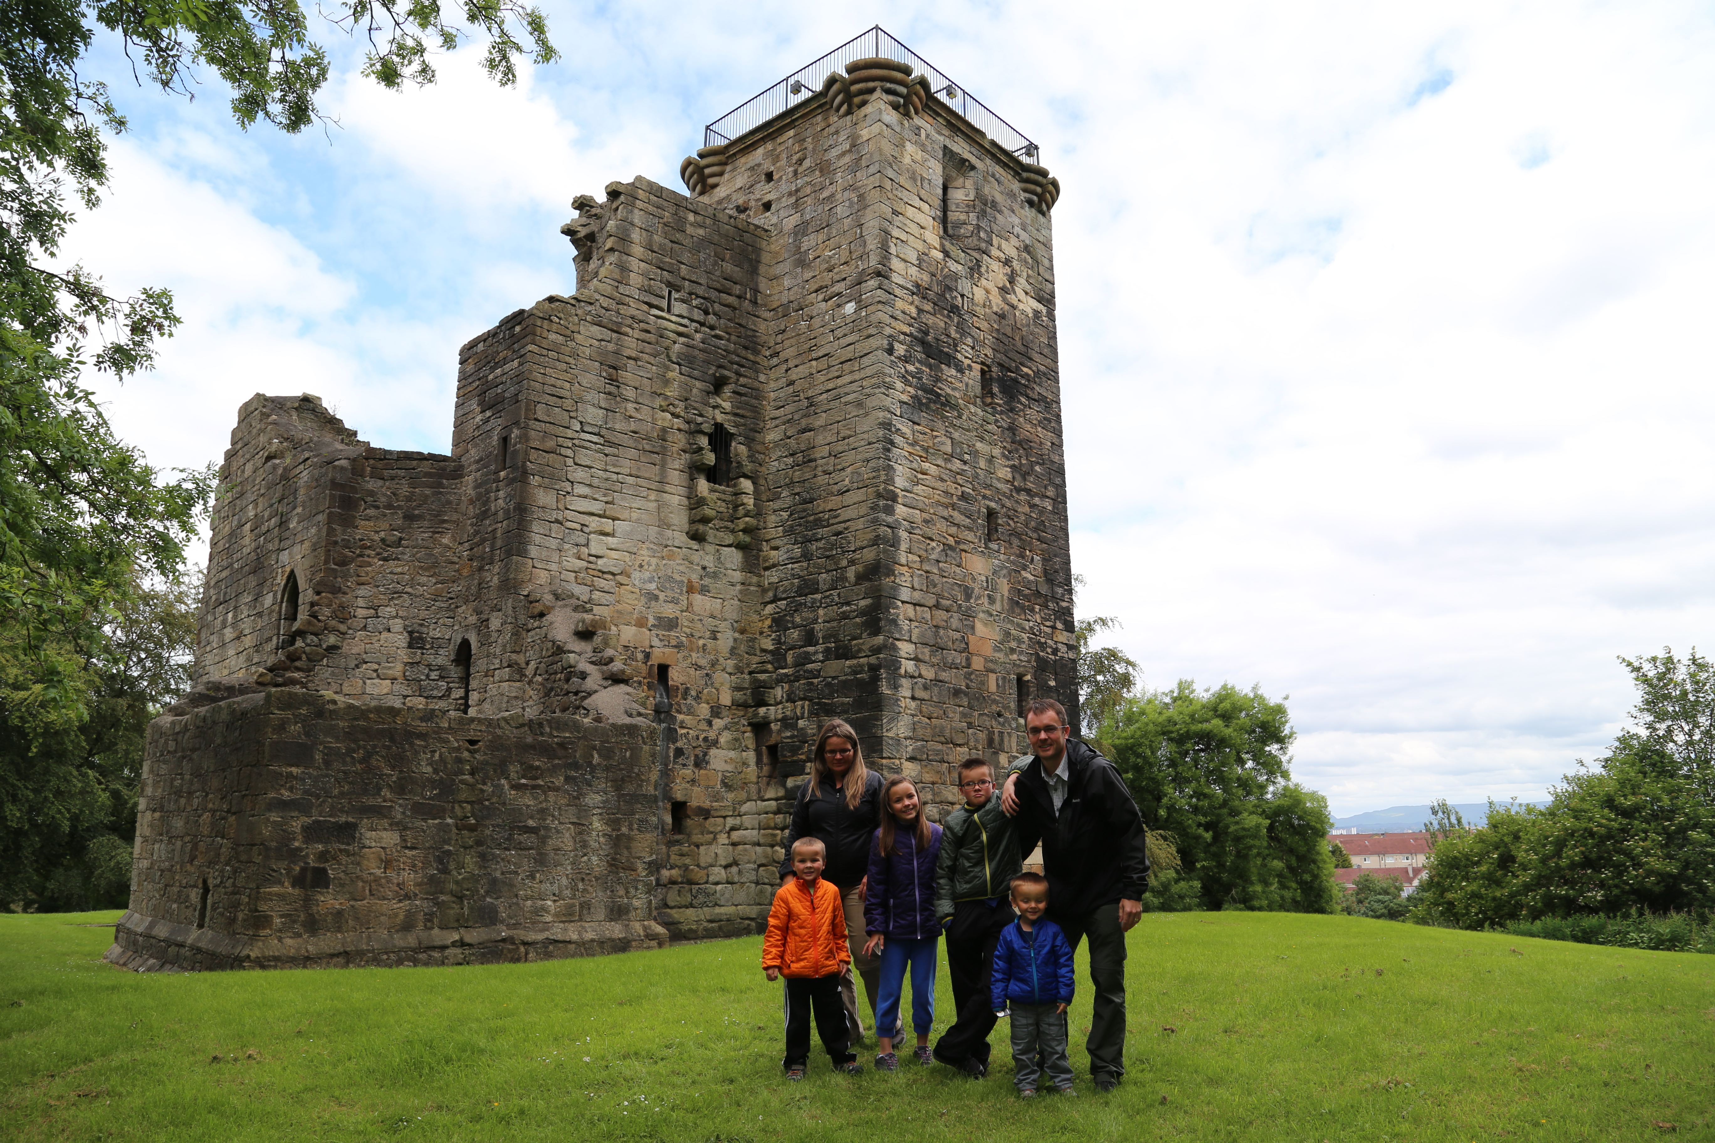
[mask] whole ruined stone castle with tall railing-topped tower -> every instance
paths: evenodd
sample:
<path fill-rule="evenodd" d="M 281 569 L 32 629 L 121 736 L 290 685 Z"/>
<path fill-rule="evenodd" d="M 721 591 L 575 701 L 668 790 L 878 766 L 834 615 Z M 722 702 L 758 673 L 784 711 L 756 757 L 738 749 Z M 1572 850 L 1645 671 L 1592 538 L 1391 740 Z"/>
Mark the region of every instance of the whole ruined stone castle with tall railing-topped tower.
<path fill-rule="evenodd" d="M 755 932 L 823 720 L 940 816 L 1074 708 L 1036 146 L 880 29 L 705 142 L 689 197 L 573 202 L 576 291 L 460 351 L 451 456 L 238 411 L 111 960 Z"/>

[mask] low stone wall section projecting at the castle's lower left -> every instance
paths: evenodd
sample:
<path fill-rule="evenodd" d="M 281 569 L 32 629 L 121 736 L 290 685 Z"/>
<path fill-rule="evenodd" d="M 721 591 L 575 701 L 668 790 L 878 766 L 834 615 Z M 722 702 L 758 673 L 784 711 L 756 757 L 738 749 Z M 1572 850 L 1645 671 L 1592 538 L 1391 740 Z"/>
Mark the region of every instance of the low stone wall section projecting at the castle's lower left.
<path fill-rule="evenodd" d="M 665 943 L 653 727 L 273 689 L 158 718 L 147 751 L 118 963 L 458 965 Z"/>

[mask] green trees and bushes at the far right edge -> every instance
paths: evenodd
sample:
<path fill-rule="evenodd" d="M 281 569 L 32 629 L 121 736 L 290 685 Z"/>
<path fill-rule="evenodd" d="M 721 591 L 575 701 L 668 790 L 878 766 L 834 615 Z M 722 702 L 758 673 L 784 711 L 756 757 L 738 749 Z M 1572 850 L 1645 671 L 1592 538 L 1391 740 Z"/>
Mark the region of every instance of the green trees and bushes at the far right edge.
<path fill-rule="evenodd" d="M 1482 929 L 1715 908 L 1715 677 L 1696 651 L 1621 661 L 1640 691 L 1634 727 L 1549 805 L 1490 805 L 1485 828 L 1437 835 L 1418 915 Z"/>

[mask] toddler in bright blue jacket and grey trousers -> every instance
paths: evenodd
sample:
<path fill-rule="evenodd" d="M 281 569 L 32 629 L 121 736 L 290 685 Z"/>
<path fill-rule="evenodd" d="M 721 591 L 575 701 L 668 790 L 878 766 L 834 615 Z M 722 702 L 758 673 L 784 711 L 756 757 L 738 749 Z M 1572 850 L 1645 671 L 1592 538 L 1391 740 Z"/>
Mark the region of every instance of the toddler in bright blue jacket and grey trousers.
<path fill-rule="evenodd" d="M 1048 877 L 1014 877 L 1012 908 L 1019 920 L 1007 925 L 995 944 L 991 987 L 996 1016 L 1005 1016 L 1008 1002 L 1012 1006 L 1012 1081 L 1020 1098 L 1034 1098 L 1041 1071 L 1046 1071 L 1056 1092 L 1072 1095 L 1072 1062 L 1067 1059 L 1072 946 L 1060 925 L 1043 920 Z"/>

